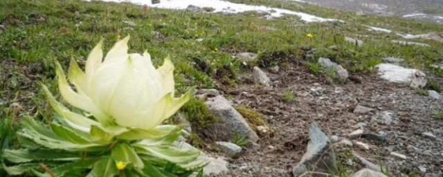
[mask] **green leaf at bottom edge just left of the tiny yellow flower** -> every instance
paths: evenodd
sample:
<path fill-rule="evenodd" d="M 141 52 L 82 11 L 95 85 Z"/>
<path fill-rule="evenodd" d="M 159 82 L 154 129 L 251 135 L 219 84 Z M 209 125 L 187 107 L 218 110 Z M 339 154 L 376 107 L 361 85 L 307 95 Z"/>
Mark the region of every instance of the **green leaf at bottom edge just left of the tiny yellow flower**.
<path fill-rule="evenodd" d="M 100 158 L 94 165 L 88 176 L 114 177 L 118 175 L 116 162 L 109 157 Z"/>

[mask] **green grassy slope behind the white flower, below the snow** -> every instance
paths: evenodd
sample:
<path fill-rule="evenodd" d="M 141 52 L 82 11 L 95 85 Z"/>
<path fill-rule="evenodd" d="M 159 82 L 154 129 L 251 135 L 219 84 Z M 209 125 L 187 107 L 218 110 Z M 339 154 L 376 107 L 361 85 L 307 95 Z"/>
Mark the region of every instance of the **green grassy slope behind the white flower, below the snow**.
<path fill-rule="evenodd" d="M 382 57 L 402 57 L 416 68 L 428 68 L 430 64 L 443 60 L 443 50 L 439 50 L 442 44 L 435 41 L 424 41 L 431 44 L 430 48 L 397 46 L 390 43 L 391 39 L 399 39 L 397 35 L 370 32 L 361 26 L 366 24 L 396 32 L 421 33 L 443 31 L 441 25 L 392 17 L 356 16 L 353 12 L 337 12 L 307 4 L 300 6 L 287 1 L 235 1 L 284 7 L 321 17 L 343 19 L 346 22 L 305 25 L 298 17 L 293 16 L 269 21 L 257 12 L 210 15 L 152 8 L 143 11 L 140 6 L 129 3 L 97 1 L 1 1 L 0 24 L 7 28 L 0 31 L 2 116 L 13 119 L 36 111 L 41 115 L 50 114 L 51 110 L 44 102 L 42 94 L 32 83 L 44 82 L 51 85 L 53 92 L 56 92 L 51 62 L 53 59 L 62 62 L 64 66 L 67 66 L 71 57 L 82 63 L 101 38 L 105 39 L 105 50 L 109 50 L 118 35 L 131 35 L 130 52 L 141 53 L 147 50 L 157 65 L 170 55 L 176 66 L 178 93 L 183 93 L 192 85 L 201 88 L 215 87 L 215 77 L 219 80 L 226 79 L 228 84 L 235 85 L 236 74 L 246 71 L 246 68 L 232 58 L 232 54 L 238 52 L 259 53 L 266 64 L 278 64 L 291 57 L 311 63 L 309 66 L 314 71 L 314 63 L 318 57 L 329 57 L 352 72 L 373 71 L 373 66 Z M 130 27 L 123 21 L 133 21 L 136 26 Z M 263 27 L 267 29 L 262 29 Z M 154 31 L 160 35 L 156 36 Z M 308 33 L 313 34 L 314 38 L 308 39 Z M 365 35 L 365 45 L 357 48 L 353 44 L 347 44 L 343 41 L 345 35 Z M 204 41 L 196 41 L 198 38 L 204 38 Z M 338 51 L 328 48 L 332 45 L 338 45 Z M 305 52 L 310 48 L 318 48 L 318 52 L 312 60 L 304 61 Z M 25 66 L 35 66 L 38 69 L 24 73 Z M 33 88 L 29 88 L 28 84 Z M 24 103 L 24 100 L 27 102 Z M 32 109 L 17 111 L 11 106 L 14 102 L 32 105 L 28 106 Z M 0 136 L 5 136 L 5 133 Z"/>

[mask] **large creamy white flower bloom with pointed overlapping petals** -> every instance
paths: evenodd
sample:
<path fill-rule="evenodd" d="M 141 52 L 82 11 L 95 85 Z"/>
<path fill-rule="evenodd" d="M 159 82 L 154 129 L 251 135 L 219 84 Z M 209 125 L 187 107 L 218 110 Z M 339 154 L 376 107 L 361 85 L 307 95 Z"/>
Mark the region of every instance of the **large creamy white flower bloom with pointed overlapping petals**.
<path fill-rule="evenodd" d="M 189 100 L 190 91 L 174 98 L 174 66 L 165 59 L 163 66 L 155 68 L 145 52 L 128 54 L 129 37 L 118 41 L 102 61 L 102 41 L 93 48 L 83 72 L 71 60 L 69 81 L 57 63 L 57 78 L 64 100 L 93 115 L 100 123 L 82 115 L 51 105 L 62 113 L 69 124 L 89 131 L 92 125 L 100 127 L 126 127 L 150 130 L 173 115 Z M 54 106 L 55 105 L 55 106 Z"/>

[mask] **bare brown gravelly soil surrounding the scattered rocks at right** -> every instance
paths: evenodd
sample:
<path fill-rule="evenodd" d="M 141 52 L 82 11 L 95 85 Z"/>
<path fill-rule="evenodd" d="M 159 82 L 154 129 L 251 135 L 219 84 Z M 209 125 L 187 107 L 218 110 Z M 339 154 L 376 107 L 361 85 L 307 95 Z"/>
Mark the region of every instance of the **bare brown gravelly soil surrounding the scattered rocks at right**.
<path fill-rule="evenodd" d="M 230 172 L 224 176 L 292 176 L 292 168 L 306 151 L 312 122 L 317 122 L 327 136 L 340 139 L 359 129 L 359 124 L 365 131 L 386 134 L 387 142 L 356 140 L 370 145 L 369 150 L 355 143 L 353 147 L 334 146 L 345 167 L 361 169 L 359 161 L 346 158 L 355 151 L 376 165 L 388 167 L 392 176 L 425 176 L 419 167 L 426 168 L 426 176 L 443 176 L 443 120 L 431 118 L 432 113 L 443 108 L 442 100 L 421 95 L 408 86 L 388 83 L 377 73 L 351 75 L 359 79 L 345 84 L 311 75 L 302 64 L 280 66 L 278 73 L 266 73 L 273 88 L 253 84 L 251 73 L 245 73 L 237 87 L 220 85 L 221 92 L 232 97 L 234 104 L 266 115 L 273 131 L 259 140 L 260 147 L 247 148 L 241 158 L 230 159 Z M 442 84 L 441 79 L 433 80 Z M 311 88 L 320 91 L 314 93 Z M 285 91 L 296 93 L 296 102 L 284 102 Z M 353 113 L 357 104 L 374 111 Z M 390 124 L 383 123 L 383 113 L 392 116 Z M 424 132 L 437 138 L 426 138 L 422 136 Z M 391 151 L 406 155 L 407 160 L 390 156 Z"/>

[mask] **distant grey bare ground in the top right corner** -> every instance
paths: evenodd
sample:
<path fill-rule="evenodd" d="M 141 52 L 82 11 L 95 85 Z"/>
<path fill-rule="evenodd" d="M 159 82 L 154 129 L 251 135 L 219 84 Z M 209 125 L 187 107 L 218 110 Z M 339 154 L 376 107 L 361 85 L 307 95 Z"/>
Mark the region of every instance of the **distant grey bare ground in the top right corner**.
<path fill-rule="evenodd" d="M 291 1 L 291 0 L 289 0 Z M 327 8 L 443 23 L 441 0 L 303 0 Z"/>

